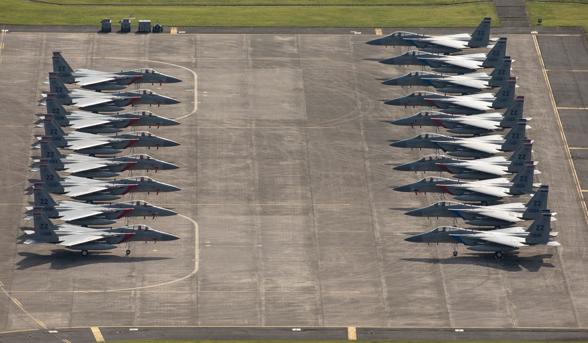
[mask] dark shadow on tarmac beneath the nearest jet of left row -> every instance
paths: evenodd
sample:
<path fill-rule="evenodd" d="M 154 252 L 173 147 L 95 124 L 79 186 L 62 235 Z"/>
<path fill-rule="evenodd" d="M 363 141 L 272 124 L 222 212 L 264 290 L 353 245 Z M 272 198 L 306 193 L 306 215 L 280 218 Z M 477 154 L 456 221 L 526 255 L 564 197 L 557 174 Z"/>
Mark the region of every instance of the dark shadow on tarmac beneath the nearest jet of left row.
<path fill-rule="evenodd" d="M 22 260 L 18 261 L 16 270 L 25 270 L 39 265 L 50 264 L 49 269 L 63 270 L 68 268 L 81 267 L 88 264 L 100 263 L 130 263 L 130 262 L 144 262 L 144 261 L 159 261 L 170 260 L 172 257 L 124 257 L 114 255 L 107 251 L 91 251 L 86 257 L 82 257 L 79 251 L 71 251 L 65 249 L 51 250 L 51 255 L 35 254 L 23 251 L 18 253 Z"/>

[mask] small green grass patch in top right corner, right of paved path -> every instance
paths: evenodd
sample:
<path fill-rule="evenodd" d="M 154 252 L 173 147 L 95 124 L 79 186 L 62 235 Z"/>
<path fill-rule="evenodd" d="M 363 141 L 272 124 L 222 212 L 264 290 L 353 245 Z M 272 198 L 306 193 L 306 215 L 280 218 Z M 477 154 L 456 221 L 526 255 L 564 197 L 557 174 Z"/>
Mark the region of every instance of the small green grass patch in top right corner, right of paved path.
<path fill-rule="evenodd" d="M 584 1 L 588 2 L 588 0 Z M 541 18 L 542 26 L 582 26 L 584 32 L 588 32 L 588 4 L 547 2 L 527 2 L 526 4 L 531 25 L 535 25 L 537 18 Z"/>

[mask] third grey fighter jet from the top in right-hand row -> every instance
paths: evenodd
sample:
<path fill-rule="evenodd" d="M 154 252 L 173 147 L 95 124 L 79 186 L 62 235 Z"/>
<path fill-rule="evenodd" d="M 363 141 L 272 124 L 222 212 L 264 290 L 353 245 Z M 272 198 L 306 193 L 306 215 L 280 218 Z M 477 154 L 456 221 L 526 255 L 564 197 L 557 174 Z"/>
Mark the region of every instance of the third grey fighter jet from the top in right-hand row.
<path fill-rule="evenodd" d="M 489 88 L 502 87 L 510 78 L 510 56 L 505 56 L 490 74 L 442 75 L 415 71 L 382 82 L 387 86 L 433 86 L 440 93 L 478 93 Z M 518 86 L 517 86 L 518 87 Z"/>

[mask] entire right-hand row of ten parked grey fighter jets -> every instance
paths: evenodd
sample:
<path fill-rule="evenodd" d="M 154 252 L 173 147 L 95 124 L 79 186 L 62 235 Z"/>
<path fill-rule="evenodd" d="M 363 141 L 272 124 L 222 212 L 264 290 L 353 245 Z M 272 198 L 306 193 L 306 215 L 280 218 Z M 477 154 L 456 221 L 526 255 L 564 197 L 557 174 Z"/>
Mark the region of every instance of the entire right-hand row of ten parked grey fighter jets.
<path fill-rule="evenodd" d="M 455 200 L 475 201 L 462 204 L 455 201 L 436 203 L 408 211 L 415 217 L 462 218 L 466 224 L 487 228 L 459 228 L 440 226 L 433 230 L 405 239 L 413 243 L 452 243 L 453 255 L 457 244 L 468 250 L 495 252 L 502 257 L 503 251 L 536 244 L 559 246 L 550 238 L 550 223 L 556 214 L 547 208 L 549 186 L 533 183 L 534 174 L 540 173 L 533 162 L 533 140 L 526 139 L 526 130 L 531 127 L 523 118 L 524 97 L 515 96 L 516 78 L 510 76 L 514 60 L 506 56 L 506 38 L 490 38 L 490 18 L 483 19 L 472 35 L 425 36 L 410 32 L 394 32 L 389 36 L 372 39 L 369 45 L 415 46 L 417 51 L 380 60 L 386 65 L 417 65 L 432 68 L 433 72 L 413 71 L 404 76 L 382 82 L 388 86 L 432 86 L 439 93 L 417 90 L 407 96 L 388 100 L 385 105 L 436 107 L 439 112 L 424 110 L 416 115 L 390 122 L 393 125 L 423 127 L 432 126 L 436 131 L 446 129 L 448 134 L 471 134 L 472 137 L 450 136 L 439 133 L 421 133 L 416 137 L 392 140 L 390 146 L 410 149 L 443 150 L 449 156 L 473 159 L 452 159 L 441 154 L 430 154 L 415 162 L 400 164 L 393 169 L 403 172 L 437 172 L 439 176 L 427 176 L 410 184 L 395 187 L 395 191 L 438 193 L 443 198 L 449 194 Z M 489 45 L 496 42 L 495 45 Z M 449 55 L 466 48 L 492 48 L 489 53 Z M 443 53 L 445 55 L 436 55 Z M 494 68 L 487 73 L 477 69 Z M 440 74 L 441 73 L 441 74 Z M 457 75 L 445 75 L 453 73 Z M 495 95 L 479 93 L 499 88 Z M 443 93 L 443 94 L 441 94 Z M 447 95 L 459 93 L 460 95 Z M 506 109 L 504 113 L 486 113 L 488 110 Z M 491 134 L 505 130 L 506 136 Z M 489 135 L 486 135 L 489 134 Z M 513 152 L 510 157 L 495 156 L 497 153 Z M 453 179 L 442 177 L 442 173 L 453 174 Z M 508 176 L 513 174 L 513 176 Z M 506 177 L 503 177 L 506 176 Z M 527 203 L 503 203 L 488 206 L 512 196 L 529 195 Z M 519 221 L 533 220 L 529 228 L 506 227 Z M 455 223 L 455 222 L 454 222 Z"/>

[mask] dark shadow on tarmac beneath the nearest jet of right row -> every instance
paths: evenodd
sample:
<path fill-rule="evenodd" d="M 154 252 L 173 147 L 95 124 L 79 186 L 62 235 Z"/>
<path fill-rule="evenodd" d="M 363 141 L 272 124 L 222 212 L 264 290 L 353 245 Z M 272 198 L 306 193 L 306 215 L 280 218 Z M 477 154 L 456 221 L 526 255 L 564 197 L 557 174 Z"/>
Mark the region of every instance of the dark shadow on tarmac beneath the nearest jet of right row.
<path fill-rule="evenodd" d="M 539 271 L 540 268 L 555 268 L 553 264 L 543 262 L 546 258 L 552 257 L 552 254 L 518 257 L 516 253 L 505 253 L 504 258 L 495 258 L 493 253 L 468 253 L 447 258 L 400 258 L 400 260 L 430 264 L 482 265 L 503 271 Z"/>

